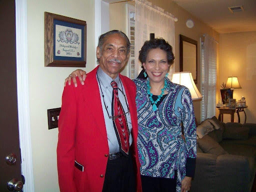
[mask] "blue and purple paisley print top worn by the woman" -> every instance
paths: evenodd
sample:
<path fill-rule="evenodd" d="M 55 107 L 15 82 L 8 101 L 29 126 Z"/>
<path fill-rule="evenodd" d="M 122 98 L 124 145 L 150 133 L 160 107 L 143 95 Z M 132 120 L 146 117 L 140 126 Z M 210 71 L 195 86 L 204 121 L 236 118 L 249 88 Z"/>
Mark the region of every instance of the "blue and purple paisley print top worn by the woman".
<path fill-rule="evenodd" d="M 156 111 L 147 94 L 147 79 L 134 79 L 138 117 L 138 155 L 140 174 L 174 178 L 177 191 L 185 176 L 186 158 L 196 157 L 196 126 L 193 102 L 185 86 L 167 78 L 167 95 Z M 181 125 L 185 141 L 181 137 Z"/>

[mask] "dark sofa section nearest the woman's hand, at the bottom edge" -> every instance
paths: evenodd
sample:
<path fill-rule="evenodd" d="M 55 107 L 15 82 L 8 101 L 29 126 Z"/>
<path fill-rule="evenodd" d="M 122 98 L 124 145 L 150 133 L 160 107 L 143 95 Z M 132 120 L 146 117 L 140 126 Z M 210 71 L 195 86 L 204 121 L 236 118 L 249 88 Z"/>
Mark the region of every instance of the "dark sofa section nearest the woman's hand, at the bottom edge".
<path fill-rule="evenodd" d="M 215 191 L 216 159 L 217 156 L 214 154 L 197 153 L 194 178 L 191 182 L 190 192 Z"/>

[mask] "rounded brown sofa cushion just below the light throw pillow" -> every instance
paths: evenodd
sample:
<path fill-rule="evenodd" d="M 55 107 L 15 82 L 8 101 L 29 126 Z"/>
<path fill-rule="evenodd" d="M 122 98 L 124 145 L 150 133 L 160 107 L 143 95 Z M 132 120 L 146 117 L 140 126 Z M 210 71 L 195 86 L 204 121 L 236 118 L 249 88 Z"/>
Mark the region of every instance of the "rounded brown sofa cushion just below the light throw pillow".
<path fill-rule="evenodd" d="M 208 135 L 197 139 L 198 146 L 204 153 L 211 153 L 215 155 L 228 154 L 214 139 Z"/>

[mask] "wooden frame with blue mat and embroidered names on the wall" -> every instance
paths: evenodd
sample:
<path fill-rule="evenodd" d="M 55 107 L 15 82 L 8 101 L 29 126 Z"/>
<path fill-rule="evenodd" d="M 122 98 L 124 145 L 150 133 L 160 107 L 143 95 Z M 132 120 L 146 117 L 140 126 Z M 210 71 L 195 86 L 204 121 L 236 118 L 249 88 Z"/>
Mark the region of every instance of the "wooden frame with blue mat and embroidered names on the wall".
<path fill-rule="evenodd" d="M 85 65 L 86 21 L 44 12 L 44 66 Z"/>

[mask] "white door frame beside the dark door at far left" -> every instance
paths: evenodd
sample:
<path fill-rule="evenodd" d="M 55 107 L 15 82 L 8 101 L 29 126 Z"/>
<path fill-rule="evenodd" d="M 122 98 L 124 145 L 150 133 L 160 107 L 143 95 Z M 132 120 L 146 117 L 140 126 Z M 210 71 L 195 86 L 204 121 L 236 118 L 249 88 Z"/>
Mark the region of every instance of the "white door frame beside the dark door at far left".
<path fill-rule="evenodd" d="M 21 174 L 25 177 L 24 192 L 34 191 L 28 94 L 26 14 L 26 0 L 15 0 L 18 130 L 22 162 Z"/>

